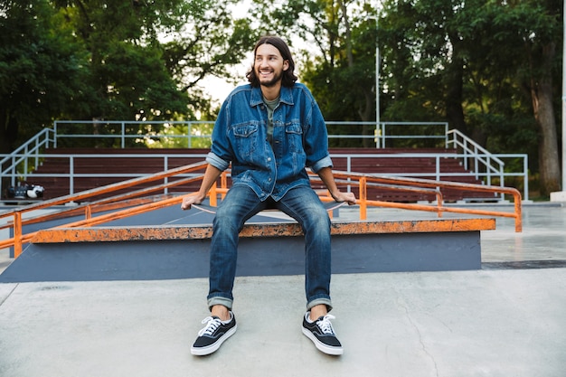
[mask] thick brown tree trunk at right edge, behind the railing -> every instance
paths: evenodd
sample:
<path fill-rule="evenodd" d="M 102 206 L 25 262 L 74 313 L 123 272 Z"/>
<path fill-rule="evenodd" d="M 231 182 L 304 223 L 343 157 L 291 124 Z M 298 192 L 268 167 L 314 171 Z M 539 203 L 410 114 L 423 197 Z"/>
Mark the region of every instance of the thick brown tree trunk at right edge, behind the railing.
<path fill-rule="evenodd" d="M 558 156 L 556 119 L 552 105 L 552 60 L 555 44 L 548 43 L 542 48 L 542 77 L 531 87 L 533 112 L 540 130 L 539 164 L 541 172 L 541 194 L 549 195 L 561 189 L 561 171 Z"/>

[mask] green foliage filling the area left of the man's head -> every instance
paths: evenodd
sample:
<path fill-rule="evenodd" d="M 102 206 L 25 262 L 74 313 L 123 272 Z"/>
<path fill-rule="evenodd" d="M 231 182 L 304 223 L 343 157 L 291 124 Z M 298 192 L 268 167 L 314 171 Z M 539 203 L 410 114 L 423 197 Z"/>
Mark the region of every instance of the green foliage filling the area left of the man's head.
<path fill-rule="evenodd" d="M 230 77 L 255 42 L 249 20 L 232 20 L 233 4 L 2 2 L 0 152 L 58 118 L 213 118 L 200 82 Z"/>

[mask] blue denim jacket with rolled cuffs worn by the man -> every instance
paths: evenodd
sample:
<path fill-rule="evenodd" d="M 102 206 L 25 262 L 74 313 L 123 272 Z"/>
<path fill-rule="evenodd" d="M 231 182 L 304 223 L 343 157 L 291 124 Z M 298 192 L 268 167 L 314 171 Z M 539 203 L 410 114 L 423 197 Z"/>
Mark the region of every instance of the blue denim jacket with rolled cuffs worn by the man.
<path fill-rule="evenodd" d="M 221 171 L 231 164 L 232 184 L 247 184 L 261 201 L 309 185 L 306 167 L 315 173 L 332 167 L 325 119 L 305 85 L 281 87 L 272 145 L 267 127 L 261 90 L 250 84 L 236 88 L 222 104 L 206 161 Z"/>

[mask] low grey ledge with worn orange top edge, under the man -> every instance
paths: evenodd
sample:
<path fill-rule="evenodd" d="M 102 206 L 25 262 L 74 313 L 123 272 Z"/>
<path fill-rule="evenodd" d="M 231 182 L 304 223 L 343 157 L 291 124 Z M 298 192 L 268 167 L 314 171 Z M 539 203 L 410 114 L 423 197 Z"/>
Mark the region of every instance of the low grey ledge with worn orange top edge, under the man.
<path fill-rule="evenodd" d="M 494 219 L 334 223 L 333 273 L 481 269 L 480 231 L 491 229 Z M 210 225 L 40 231 L 0 282 L 206 278 L 210 231 Z M 237 275 L 302 275 L 304 249 L 297 223 L 248 224 Z"/>

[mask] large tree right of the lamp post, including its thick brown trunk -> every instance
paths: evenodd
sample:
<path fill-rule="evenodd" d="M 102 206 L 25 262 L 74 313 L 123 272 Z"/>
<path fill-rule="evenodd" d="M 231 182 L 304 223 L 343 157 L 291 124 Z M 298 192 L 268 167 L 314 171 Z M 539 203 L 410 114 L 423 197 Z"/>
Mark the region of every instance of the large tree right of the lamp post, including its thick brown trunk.
<path fill-rule="evenodd" d="M 538 150 L 542 193 L 556 191 L 560 9 L 552 0 L 386 1 L 380 39 L 394 96 L 386 114 L 429 108 L 495 152 Z"/>

